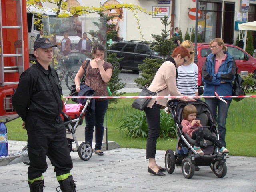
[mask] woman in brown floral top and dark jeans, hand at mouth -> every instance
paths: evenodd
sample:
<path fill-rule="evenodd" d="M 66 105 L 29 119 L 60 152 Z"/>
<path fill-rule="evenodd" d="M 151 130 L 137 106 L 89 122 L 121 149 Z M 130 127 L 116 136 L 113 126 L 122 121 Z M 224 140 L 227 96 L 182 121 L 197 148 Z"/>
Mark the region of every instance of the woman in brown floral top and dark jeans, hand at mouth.
<path fill-rule="evenodd" d="M 96 44 L 93 47 L 94 59 L 90 60 L 86 69 L 85 85 L 93 88 L 96 96 L 108 96 L 108 85 L 112 76 L 112 64 L 103 60 L 105 54 L 104 46 Z M 86 60 L 78 70 L 75 77 L 76 92 L 80 92 L 80 81 L 86 68 Z M 85 116 L 85 140 L 92 144 L 93 129 L 95 126 L 95 154 L 103 155 L 101 151 L 104 134 L 104 116 L 108 108 L 108 99 L 96 99 L 93 114 Z"/>

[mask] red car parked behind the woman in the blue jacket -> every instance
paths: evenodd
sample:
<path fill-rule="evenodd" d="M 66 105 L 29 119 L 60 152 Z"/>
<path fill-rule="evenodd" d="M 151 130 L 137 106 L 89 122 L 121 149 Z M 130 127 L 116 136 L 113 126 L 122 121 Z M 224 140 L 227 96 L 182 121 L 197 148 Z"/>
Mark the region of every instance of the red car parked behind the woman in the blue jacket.
<path fill-rule="evenodd" d="M 227 46 L 228 52 L 236 60 L 236 66 L 238 66 L 238 73 L 240 73 L 241 71 L 248 71 L 248 74 L 253 73 L 254 78 L 256 78 L 256 58 L 253 58 L 252 56 L 250 56 L 250 54 L 233 44 L 225 44 L 225 46 Z M 198 43 L 197 53 L 198 71 L 202 73 L 202 66 L 204 65 L 206 57 L 210 53 L 212 53 L 210 50 L 210 43 Z"/>

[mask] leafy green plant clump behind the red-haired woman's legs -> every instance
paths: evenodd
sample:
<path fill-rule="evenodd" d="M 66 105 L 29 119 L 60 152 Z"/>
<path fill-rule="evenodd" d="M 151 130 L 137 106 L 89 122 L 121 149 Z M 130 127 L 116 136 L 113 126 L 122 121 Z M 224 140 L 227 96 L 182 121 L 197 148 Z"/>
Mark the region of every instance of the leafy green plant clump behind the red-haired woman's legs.
<path fill-rule="evenodd" d="M 174 138 L 177 136 L 177 129 L 170 114 L 166 114 L 164 110 L 160 111 L 160 135 L 159 138 Z M 134 114 L 128 114 L 124 119 L 119 120 L 122 122 L 118 127 L 122 131 L 127 132 L 125 136 L 131 138 L 145 138 L 148 136 L 148 124 L 146 121 L 146 114 L 144 111 L 138 111 Z"/>

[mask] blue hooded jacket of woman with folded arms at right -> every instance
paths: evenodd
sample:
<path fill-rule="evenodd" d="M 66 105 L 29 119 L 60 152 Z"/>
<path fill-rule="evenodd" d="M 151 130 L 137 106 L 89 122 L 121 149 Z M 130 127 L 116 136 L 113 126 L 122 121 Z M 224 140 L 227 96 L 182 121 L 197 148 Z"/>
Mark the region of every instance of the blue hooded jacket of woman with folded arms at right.
<path fill-rule="evenodd" d="M 222 62 L 218 73 L 215 73 L 215 54 L 210 54 L 206 57 L 204 66 L 202 67 L 202 81 L 204 82 L 203 96 L 215 96 L 215 92 L 219 96 L 232 95 L 232 81 L 235 79 L 236 62 L 229 52 L 226 60 Z M 220 83 L 224 81 L 226 83 Z M 232 98 L 225 98 L 231 100 Z"/>

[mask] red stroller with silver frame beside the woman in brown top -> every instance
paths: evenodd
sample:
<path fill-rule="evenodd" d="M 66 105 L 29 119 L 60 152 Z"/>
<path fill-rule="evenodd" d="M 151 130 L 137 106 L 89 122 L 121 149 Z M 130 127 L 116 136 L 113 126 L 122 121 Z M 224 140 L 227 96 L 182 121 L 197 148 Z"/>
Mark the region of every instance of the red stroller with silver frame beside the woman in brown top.
<path fill-rule="evenodd" d="M 73 96 L 77 94 L 77 92 L 73 92 L 69 96 Z M 91 96 L 95 96 L 94 92 Z M 68 103 L 68 98 L 65 100 L 64 108 L 62 113 L 60 114 L 64 125 L 66 127 L 66 133 L 72 134 L 73 139 L 67 138 L 68 147 L 71 151 L 77 151 L 80 159 L 84 161 L 88 161 L 92 157 L 93 148 L 89 142 L 82 142 L 80 145 L 78 144 L 77 138 L 75 136 L 77 126 L 81 125 L 84 120 L 84 114 L 86 112 L 87 106 L 90 104 L 92 99 L 87 99 L 86 104 L 80 107 L 80 111 L 78 112 L 65 112 L 65 105 Z M 72 142 L 76 144 L 76 150 L 72 149 Z"/>

